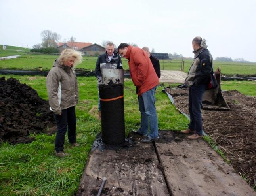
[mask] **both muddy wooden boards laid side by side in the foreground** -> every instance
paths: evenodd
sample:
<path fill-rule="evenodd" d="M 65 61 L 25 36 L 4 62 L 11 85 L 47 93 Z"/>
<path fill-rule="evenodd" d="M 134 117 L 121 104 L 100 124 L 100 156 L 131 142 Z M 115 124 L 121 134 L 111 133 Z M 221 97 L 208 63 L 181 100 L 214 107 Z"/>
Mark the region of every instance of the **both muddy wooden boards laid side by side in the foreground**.
<path fill-rule="evenodd" d="M 256 196 L 256 192 L 203 139 L 159 131 L 159 140 L 91 152 L 76 196 Z"/>

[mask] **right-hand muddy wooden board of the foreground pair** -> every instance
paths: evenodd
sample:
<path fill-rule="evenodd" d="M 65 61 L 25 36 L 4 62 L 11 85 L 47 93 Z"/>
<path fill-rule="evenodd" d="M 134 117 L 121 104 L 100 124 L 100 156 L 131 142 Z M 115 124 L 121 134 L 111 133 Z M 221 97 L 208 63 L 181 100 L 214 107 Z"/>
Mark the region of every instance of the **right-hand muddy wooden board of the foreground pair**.
<path fill-rule="evenodd" d="M 173 196 L 255 196 L 256 192 L 203 139 L 159 132 L 157 154 Z"/>

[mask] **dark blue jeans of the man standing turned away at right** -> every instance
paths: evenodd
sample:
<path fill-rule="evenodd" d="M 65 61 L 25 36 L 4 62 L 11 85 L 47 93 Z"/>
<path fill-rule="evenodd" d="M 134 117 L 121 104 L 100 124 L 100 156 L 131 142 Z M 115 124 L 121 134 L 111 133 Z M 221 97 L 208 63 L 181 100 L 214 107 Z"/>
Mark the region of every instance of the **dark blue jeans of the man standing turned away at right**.
<path fill-rule="evenodd" d="M 193 85 L 189 88 L 189 129 L 195 131 L 198 135 L 203 134 L 203 123 L 201 114 L 201 103 L 206 85 Z"/>

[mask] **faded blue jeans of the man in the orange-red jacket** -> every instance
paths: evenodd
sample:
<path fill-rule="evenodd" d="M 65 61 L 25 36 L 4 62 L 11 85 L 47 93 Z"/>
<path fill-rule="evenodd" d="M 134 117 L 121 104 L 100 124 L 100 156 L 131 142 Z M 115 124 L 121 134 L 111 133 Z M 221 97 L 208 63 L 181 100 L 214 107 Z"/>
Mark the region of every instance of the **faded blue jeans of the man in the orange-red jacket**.
<path fill-rule="evenodd" d="M 141 125 L 138 129 L 139 133 L 146 135 L 149 138 L 158 138 L 158 121 L 157 121 L 157 111 L 155 108 L 155 92 L 157 86 L 144 92 L 139 99 L 139 111 L 141 113 Z"/>

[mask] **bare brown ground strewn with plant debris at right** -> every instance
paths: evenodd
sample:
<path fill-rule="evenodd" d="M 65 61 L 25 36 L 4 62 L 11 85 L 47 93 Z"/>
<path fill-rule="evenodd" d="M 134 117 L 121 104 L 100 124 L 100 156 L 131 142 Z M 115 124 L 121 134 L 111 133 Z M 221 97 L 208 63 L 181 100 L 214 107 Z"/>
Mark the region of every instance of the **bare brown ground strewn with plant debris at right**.
<path fill-rule="evenodd" d="M 188 90 L 168 89 L 175 106 L 188 112 Z M 203 129 L 224 152 L 230 165 L 251 187 L 256 185 L 256 98 L 238 91 L 222 92 L 228 111 L 202 110 Z"/>

